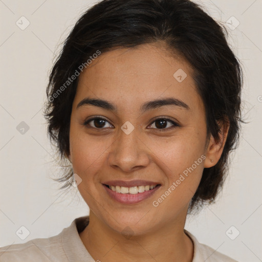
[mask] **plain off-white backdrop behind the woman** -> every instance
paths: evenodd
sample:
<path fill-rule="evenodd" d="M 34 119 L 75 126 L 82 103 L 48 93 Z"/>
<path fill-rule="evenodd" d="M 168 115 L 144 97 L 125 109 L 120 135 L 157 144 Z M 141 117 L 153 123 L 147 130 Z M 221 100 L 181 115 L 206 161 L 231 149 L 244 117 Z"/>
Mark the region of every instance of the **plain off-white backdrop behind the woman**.
<path fill-rule="evenodd" d="M 215 204 L 189 216 L 186 229 L 199 242 L 238 261 L 262 261 L 262 1 L 195 2 L 228 28 L 228 41 L 245 75 L 243 116 L 249 123 L 243 126 L 222 194 Z M 51 179 L 60 169 L 47 138 L 42 106 L 59 43 L 94 3 L 0 1 L 0 246 L 56 235 L 76 217 L 89 214 L 77 188 L 58 191 L 58 183 Z M 29 231 L 24 240 L 16 234 L 21 226 Z"/>

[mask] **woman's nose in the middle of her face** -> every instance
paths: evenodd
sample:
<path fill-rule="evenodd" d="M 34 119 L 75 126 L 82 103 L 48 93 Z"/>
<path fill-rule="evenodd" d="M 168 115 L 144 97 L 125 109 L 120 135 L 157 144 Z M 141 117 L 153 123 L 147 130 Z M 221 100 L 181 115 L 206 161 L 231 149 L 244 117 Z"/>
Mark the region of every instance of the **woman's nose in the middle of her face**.
<path fill-rule="evenodd" d="M 111 167 L 129 173 L 149 165 L 150 149 L 139 137 L 138 129 L 135 128 L 128 135 L 119 129 L 118 137 L 108 152 L 108 164 Z"/>

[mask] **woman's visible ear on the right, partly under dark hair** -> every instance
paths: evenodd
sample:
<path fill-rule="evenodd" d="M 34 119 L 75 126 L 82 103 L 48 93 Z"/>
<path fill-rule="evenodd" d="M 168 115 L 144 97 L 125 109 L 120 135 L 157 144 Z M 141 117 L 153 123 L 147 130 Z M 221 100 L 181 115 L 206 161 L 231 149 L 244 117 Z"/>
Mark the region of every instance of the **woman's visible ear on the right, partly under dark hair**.
<path fill-rule="evenodd" d="M 219 162 L 220 157 L 222 155 L 226 140 L 227 140 L 227 135 L 228 135 L 228 130 L 229 130 L 229 121 L 225 121 L 224 123 L 219 123 L 220 126 L 220 132 L 219 132 L 219 141 L 215 141 L 214 137 L 211 135 L 208 147 L 206 149 L 206 159 L 204 162 L 204 167 L 212 167 L 214 166 L 217 162 Z"/>

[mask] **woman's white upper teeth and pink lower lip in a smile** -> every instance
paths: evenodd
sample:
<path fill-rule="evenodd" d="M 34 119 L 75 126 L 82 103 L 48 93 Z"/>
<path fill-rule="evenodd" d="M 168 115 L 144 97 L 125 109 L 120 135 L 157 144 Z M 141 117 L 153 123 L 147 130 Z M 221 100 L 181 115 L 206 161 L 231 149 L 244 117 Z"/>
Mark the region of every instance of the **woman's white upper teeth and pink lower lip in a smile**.
<path fill-rule="evenodd" d="M 154 183 L 155 184 L 155 183 Z M 119 186 L 102 184 L 111 199 L 121 204 L 136 204 L 152 196 L 161 184 L 155 185 L 138 185 L 138 186 Z"/>

